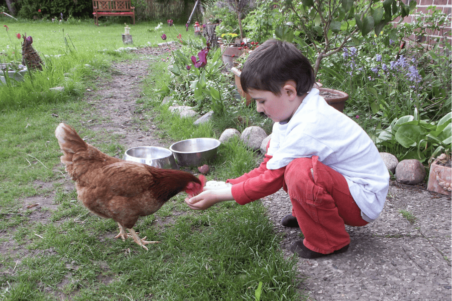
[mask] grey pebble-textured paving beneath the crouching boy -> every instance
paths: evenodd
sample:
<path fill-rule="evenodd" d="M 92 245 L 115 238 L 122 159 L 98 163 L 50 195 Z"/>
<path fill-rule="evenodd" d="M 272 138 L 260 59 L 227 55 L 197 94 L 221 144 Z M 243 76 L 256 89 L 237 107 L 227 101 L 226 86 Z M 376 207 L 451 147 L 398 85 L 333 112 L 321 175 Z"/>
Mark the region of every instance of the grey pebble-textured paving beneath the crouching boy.
<path fill-rule="evenodd" d="M 282 227 L 291 213 L 287 194 L 280 190 L 262 200 L 281 248 L 302 235 L 297 228 Z M 308 300 L 450 300 L 451 199 L 391 182 L 380 217 L 364 227 L 349 227 L 347 252 L 297 261 L 301 290 Z M 408 221 L 401 210 L 411 214 Z"/>

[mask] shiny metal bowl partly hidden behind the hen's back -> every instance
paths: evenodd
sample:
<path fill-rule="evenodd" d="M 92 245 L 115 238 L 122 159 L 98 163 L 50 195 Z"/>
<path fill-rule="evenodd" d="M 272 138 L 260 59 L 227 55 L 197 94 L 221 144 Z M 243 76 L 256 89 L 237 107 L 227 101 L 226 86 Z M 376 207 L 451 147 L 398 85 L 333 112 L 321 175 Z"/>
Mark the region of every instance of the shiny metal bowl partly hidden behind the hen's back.
<path fill-rule="evenodd" d="M 123 159 L 163 169 L 179 169 L 171 150 L 159 146 L 139 146 L 129 148 L 126 150 L 126 153 L 124 153 Z"/>

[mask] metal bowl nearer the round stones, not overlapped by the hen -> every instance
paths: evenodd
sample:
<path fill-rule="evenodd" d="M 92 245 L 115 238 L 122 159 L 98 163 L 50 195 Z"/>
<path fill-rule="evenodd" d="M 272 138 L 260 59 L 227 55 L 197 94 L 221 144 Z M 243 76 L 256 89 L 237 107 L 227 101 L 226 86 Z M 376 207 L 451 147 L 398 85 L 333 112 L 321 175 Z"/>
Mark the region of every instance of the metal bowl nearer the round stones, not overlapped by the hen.
<path fill-rule="evenodd" d="M 220 144 L 213 138 L 192 138 L 172 144 L 170 150 L 180 166 L 201 166 L 215 157 Z"/>

